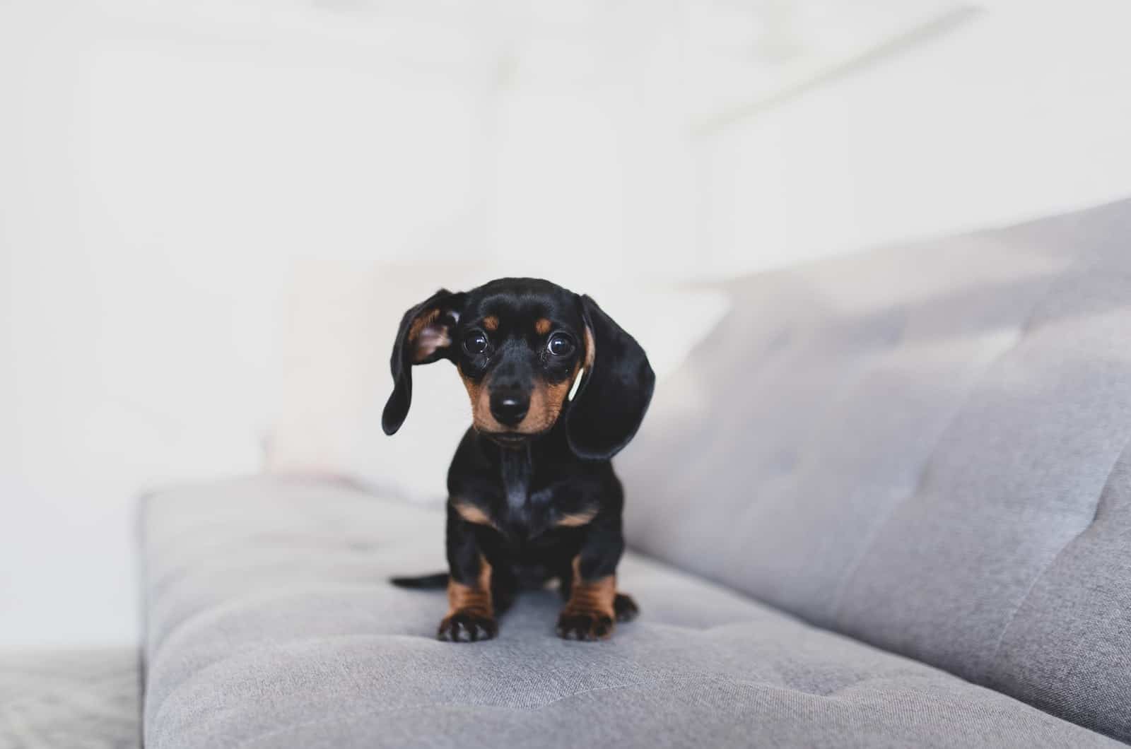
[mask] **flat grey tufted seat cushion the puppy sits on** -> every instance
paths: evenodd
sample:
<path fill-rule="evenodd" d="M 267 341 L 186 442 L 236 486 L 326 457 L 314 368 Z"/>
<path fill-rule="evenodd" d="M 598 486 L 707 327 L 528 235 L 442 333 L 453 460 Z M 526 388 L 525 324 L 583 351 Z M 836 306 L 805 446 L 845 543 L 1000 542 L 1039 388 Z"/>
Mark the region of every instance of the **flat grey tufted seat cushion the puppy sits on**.
<path fill-rule="evenodd" d="M 144 505 L 146 746 L 1091 747 L 1115 742 L 638 556 L 641 618 L 553 635 L 552 592 L 489 643 L 433 639 L 442 514 L 254 479 Z"/>

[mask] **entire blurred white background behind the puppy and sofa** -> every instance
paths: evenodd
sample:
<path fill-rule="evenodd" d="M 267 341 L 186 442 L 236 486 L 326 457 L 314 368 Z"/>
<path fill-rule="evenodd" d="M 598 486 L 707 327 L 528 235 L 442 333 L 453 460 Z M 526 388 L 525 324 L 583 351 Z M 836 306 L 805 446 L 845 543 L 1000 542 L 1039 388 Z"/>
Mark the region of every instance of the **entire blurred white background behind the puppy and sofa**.
<path fill-rule="evenodd" d="M 1122 0 L 6 0 L 0 645 L 135 640 L 137 496 L 262 468 L 318 269 L 623 309 L 1123 197 L 1129 27 Z"/>

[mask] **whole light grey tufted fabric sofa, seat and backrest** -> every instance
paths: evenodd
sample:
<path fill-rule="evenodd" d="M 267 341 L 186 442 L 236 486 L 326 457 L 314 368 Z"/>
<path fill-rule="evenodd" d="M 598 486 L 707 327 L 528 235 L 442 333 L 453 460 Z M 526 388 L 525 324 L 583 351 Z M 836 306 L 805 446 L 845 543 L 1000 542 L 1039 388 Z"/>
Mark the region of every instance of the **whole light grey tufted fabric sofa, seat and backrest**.
<path fill-rule="evenodd" d="M 639 620 L 440 643 L 437 509 L 162 492 L 147 746 L 1131 741 L 1131 204 L 725 287 L 618 458 Z"/>

